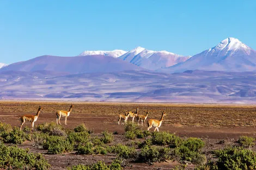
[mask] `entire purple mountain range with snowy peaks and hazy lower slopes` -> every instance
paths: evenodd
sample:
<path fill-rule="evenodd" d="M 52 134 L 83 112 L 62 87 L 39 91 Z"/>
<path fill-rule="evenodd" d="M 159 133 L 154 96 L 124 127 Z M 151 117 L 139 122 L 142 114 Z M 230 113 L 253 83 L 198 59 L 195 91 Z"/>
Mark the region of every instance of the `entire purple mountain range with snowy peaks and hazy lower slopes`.
<path fill-rule="evenodd" d="M 229 37 L 193 56 L 129 52 L 43 55 L 0 68 L 0 99 L 256 103 L 256 52 Z"/>

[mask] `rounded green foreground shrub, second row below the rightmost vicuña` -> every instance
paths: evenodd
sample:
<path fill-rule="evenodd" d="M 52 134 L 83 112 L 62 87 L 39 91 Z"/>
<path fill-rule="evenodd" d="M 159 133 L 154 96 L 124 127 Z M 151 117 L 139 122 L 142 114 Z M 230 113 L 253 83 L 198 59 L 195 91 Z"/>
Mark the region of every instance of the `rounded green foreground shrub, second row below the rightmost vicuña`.
<path fill-rule="evenodd" d="M 162 146 L 144 146 L 138 156 L 138 161 L 156 162 L 170 158 L 170 148 Z"/>

